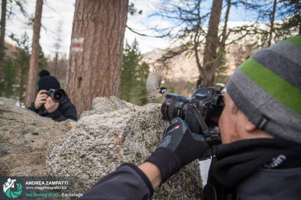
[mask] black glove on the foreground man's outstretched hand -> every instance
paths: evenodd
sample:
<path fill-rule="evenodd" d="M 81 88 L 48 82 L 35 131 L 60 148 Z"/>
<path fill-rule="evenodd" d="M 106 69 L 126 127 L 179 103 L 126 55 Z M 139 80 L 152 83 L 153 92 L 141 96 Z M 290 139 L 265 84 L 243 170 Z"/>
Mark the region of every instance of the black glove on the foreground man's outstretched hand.
<path fill-rule="evenodd" d="M 157 149 L 145 161 L 158 166 L 163 183 L 183 166 L 201 157 L 208 148 L 202 135 L 191 132 L 187 123 L 176 117 L 165 129 Z"/>

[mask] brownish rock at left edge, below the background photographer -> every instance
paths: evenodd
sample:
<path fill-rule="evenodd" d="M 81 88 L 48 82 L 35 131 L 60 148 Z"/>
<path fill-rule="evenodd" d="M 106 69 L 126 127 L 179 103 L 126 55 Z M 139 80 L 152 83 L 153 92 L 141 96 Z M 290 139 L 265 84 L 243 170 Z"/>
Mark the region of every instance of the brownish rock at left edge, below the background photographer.
<path fill-rule="evenodd" d="M 46 175 L 46 158 L 75 122 L 56 122 L 0 97 L 0 175 Z"/>

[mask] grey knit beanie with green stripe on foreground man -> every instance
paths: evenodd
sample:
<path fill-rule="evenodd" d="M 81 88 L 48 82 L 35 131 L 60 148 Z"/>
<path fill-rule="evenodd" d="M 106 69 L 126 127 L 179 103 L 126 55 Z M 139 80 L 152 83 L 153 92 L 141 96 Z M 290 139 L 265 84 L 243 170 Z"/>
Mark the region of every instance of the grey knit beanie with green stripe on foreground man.
<path fill-rule="evenodd" d="M 256 125 L 301 143 L 301 35 L 257 51 L 230 77 L 227 92 Z"/>

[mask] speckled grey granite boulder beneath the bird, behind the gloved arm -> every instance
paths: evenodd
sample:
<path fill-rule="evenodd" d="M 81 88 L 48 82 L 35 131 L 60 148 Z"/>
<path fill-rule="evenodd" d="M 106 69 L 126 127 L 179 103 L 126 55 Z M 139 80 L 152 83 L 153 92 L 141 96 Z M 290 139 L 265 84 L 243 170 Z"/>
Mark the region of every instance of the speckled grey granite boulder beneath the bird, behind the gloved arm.
<path fill-rule="evenodd" d="M 86 191 L 123 162 L 139 164 L 157 147 L 168 125 L 158 104 L 136 106 L 114 96 L 93 99 L 93 109 L 53 148 L 48 175 L 77 176 Z M 184 167 L 155 190 L 153 199 L 200 199 L 198 162 Z"/>

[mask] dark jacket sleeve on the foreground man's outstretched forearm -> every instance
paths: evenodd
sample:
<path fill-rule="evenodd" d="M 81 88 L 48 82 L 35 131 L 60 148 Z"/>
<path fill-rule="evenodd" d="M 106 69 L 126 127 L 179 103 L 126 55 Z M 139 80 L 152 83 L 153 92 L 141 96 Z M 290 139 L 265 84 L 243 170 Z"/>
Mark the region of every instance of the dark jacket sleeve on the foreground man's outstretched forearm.
<path fill-rule="evenodd" d="M 147 176 L 134 164 L 121 164 L 101 178 L 78 200 L 148 199 L 154 189 Z"/>

